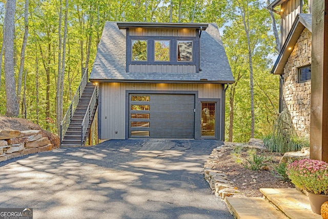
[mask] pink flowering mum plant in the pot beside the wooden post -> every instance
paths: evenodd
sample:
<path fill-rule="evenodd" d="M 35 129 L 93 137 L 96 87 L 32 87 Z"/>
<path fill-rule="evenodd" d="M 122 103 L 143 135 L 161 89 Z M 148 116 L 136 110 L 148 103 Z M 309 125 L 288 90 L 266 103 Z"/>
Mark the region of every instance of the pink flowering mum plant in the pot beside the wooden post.
<path fill-rule="evenodd" d="M 302 159 L 288 165 L 286 171 L 292 183 L 314 194 L 328 194 L 328 164 L 324 161 Z"/>

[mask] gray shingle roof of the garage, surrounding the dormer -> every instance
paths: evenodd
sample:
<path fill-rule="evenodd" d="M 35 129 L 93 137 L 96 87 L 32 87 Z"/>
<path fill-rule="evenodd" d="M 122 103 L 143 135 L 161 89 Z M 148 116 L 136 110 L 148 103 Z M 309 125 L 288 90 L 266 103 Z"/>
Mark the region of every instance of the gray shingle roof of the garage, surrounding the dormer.
<path fill-rule="evenodd" d="M 234 83 L 216 24 L 209 24 L 200 37 L 199 73 L 126 72 L 126 30 L 106 22 L 98 45 L 90 81 L 207 82 Z M 200 81 L 202 79 L 202 81 Z"/>

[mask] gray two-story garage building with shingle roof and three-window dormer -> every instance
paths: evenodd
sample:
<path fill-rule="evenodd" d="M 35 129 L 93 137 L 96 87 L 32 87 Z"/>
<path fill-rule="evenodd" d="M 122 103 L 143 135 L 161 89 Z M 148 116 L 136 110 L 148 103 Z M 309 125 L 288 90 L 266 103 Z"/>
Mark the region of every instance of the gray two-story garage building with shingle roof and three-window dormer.
<path fill-rule="evenodd" d="M 107 22 L 90 81 L 99 139 L 224 140 L 234 78 L 216 24 Z"/>

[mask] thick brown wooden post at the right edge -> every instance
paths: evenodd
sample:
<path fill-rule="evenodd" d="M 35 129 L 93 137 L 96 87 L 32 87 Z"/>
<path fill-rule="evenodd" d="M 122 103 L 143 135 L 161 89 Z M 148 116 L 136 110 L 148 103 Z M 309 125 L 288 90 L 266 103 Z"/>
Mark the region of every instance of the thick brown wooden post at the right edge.
<path fill-rule="evenodd" d="M 310 158 L 328 162 L 328 0 L 313 1 Z"/>

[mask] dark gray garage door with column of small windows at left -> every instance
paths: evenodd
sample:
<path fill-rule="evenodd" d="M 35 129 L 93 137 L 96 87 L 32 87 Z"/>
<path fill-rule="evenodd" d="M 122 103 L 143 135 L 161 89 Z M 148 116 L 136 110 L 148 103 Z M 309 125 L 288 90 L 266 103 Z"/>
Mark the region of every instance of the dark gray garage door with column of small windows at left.
<path fill-rule="evenodd" d="M 194 138 L 194 94 L 130 94 L 129 138 Z"/>

